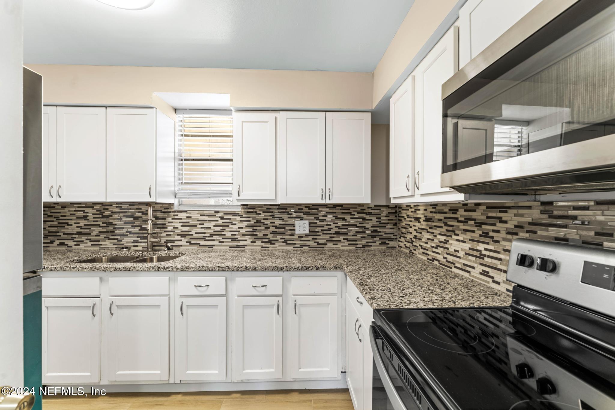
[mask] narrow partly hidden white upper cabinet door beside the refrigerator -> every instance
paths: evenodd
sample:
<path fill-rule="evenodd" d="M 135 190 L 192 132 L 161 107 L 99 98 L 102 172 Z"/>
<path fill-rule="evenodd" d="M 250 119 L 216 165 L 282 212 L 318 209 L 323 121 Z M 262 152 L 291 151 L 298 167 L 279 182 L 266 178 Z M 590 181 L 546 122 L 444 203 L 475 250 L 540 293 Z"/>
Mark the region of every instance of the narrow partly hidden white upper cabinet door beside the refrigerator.
<path fill-rule="evenodd" d="M 56 109 L 42 108 L 42 200 L 55 202 L 56 182 Z"/>

